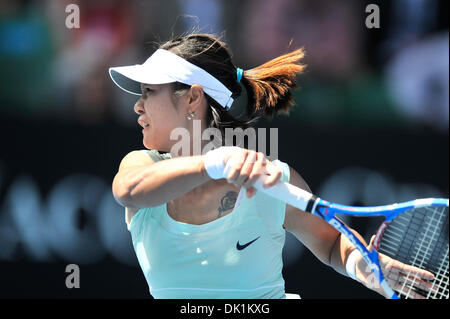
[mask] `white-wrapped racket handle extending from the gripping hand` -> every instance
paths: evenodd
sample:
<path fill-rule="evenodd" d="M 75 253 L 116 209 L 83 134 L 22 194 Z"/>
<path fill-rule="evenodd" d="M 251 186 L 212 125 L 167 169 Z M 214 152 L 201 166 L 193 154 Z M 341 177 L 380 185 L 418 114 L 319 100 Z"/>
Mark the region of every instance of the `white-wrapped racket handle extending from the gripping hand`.
<path fill-rule="evenodd" d="M 313 194 L 296 187 L 292 184 L 279 181 L 271 187 L 264 188 L 263 184 L 267 180 L 268 175 L 262 175 L 253 185 L 257 190 L 279 199 L 291 206 L 306 211 L 309 201 L 313 198 Z"/>

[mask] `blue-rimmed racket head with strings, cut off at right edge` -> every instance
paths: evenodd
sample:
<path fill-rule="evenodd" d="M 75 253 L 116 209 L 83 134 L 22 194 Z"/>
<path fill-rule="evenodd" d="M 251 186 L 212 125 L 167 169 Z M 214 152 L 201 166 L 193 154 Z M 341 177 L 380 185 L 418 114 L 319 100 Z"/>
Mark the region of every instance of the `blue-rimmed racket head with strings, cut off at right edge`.
<path fill-rule="evenodd" d="M 378 229 L 373 246 L 379 254 L 435 276 L 423 281 L 410 271 L 381 268 L 383 277 L 401 298 L 449 298 L 448 215 L 448 199 L 420 199 L 398 204 Z"/>

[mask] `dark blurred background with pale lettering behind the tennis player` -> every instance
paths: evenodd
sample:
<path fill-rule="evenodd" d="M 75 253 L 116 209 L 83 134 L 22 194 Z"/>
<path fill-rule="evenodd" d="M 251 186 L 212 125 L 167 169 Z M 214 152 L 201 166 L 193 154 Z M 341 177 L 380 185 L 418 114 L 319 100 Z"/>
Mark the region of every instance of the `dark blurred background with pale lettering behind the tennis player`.
<path fill-rule="evenodd" d="M 66 27 L 70 4 L 79 28 Z M 369 4 L 379 28 L 366 27 Z M 136 97 L 108 67 L 192 29 L 225 31 L 243 69 L 305 48 L 296 107 L 258 126 L 278 128 L 279 159 L 320 197 L 448 197 L 447 12 L 445 0 L 1 1 L 0 298 L 151 298 L 111 193 L 122 157 L 143 149 Z M 347 222 L 366 239 L 376 229 Z M 290 234 L 284 263 L 286 291 L 302 298 L 380 298 Z"/>

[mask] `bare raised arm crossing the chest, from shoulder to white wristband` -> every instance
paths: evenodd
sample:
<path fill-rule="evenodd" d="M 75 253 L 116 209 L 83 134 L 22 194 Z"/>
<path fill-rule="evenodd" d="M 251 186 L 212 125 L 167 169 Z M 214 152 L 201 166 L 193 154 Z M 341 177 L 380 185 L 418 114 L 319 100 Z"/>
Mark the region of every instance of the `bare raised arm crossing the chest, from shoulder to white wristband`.
<path fill-rule="evenodd" d="M 166 203 L 208 180 L 201 155 L 155 163 L 145 152 L 135 151 L 123 158 L 112 188 L 122 206 L 135 210 Z"/>

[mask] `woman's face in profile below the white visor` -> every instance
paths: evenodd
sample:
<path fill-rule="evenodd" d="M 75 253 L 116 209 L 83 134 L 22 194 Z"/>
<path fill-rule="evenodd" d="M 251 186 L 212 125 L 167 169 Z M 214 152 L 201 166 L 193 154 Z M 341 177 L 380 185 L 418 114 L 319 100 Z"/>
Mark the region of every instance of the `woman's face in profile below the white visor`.
<path fill-rule="evenodd" d="M 134 111 L 139 115 L 143 144 L 148 149 L 170 152 L 176 140 L 170 140 L 170 133 L 178 127 L 186 127 L 189 114 L 183 99 L 175 101 L 170 84 L 142 84 L 142 96 L 136 102 Z"/>

